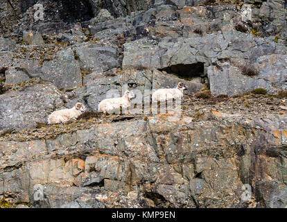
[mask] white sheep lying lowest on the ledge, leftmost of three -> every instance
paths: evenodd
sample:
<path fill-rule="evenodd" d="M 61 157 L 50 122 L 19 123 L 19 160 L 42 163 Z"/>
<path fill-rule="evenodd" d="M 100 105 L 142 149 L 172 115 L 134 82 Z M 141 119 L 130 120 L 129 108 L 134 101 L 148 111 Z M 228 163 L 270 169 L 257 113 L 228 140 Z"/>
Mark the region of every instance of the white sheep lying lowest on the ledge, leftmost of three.
<path fill-rule="evenodd" d="M 87 108 L 82 103 L 76 103 L 76 105 L 71 109 L 57 110 L 52 112 L 48 117 L 48 123 L 62 123 L 69 121 L 70 119 L 76 119 L 85 112 Z"/>

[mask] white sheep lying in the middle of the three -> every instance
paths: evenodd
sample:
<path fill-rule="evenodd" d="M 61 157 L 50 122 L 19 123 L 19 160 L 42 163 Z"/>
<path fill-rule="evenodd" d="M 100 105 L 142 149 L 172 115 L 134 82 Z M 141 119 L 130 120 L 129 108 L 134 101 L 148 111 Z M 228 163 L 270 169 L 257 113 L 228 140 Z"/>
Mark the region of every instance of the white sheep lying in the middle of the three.
<path fill-rule="evenodd" d="M 133 92 L 127 90 L 123 94 L 123 97 L 104 99 L 98 104 L 98 112 L 109 112 L 112 114 L 120 108 L 126 110 L 131 104 L 130 101 L 135 97 Z"/>

